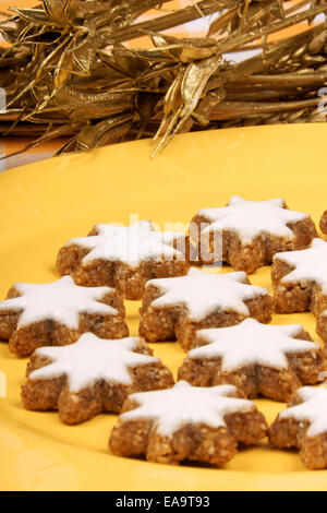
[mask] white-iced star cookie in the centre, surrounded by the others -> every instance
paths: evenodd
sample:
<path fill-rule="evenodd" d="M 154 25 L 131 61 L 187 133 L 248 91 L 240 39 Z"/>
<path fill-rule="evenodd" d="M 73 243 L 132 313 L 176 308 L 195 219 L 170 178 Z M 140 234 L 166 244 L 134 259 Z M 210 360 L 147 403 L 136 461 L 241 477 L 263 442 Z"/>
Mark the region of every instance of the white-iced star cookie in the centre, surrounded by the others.
<path fill-rule="evenodd" d="M 238 324 L 249 317 L 271 319 L 268 290 L 250 284 L 243 272 L 209 274 L 191 269 L 186 276 L 150 279 L 141 308 L 140 335 L 148 342 L 177 337 L 195 347 L 195 331 Z"/>

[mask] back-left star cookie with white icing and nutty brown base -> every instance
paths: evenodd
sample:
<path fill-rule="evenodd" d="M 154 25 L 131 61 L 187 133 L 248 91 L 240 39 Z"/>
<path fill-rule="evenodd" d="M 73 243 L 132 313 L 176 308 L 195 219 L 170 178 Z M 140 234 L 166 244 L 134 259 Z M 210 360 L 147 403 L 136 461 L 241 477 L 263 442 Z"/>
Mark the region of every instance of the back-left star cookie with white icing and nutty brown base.
<path fill-rule="evenodd" d="M 155 231 L 149 220 L 128 227 L 99 224 L 88 237 L 72 239 L 60 249 L 57 269 L 78 285 L 109 285 L 126 299 L 141 299 L 147 279 L 189 271 L 187 244 L 185 234 Z"/>

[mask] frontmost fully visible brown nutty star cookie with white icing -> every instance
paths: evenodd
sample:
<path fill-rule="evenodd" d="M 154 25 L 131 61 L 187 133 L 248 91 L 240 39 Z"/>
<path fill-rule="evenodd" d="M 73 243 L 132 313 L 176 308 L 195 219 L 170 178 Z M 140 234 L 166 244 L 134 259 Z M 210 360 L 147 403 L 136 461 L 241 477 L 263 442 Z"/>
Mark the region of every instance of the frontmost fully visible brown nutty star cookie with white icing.
<path fill-rule="evenodd" d="M 222 465 L 239 442 L 256 443 L 267 430 L 255 404 L 232 385 L 202 389 L 180 381 L 170 390 L 130 395 L 122 411 L 110 434 L 111 451 L 145 454 L 157 463 Z"/>

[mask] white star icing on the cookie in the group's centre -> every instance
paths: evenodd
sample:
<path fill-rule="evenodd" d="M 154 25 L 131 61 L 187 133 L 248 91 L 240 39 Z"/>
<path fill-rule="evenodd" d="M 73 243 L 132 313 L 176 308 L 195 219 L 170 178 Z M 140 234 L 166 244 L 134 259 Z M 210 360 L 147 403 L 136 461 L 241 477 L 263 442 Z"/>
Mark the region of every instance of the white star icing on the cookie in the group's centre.
<path fill-rule="evenodd" d="M 215 310 L 237 311 L 249 315 L 244 301 L 266 296 L 267 289 L 244 284 L 246 273 L 208 274 L 191 269 L 186 276 L 149 279 L 146 287 L 154 285 L 164 294 L 152 302 L 154 308 L 182 306 L 187 317 L 201 321 Z"/>

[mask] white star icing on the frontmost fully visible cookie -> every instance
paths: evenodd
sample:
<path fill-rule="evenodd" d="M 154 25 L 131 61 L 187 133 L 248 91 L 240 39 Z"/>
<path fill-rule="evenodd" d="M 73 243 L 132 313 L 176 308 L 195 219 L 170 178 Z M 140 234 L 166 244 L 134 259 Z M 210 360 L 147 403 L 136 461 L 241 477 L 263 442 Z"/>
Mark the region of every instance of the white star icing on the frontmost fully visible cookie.
<path fill-rule="evenodd" d="M 232 385 L 201 387 L 179 381 L 172 389 L 130 395 L 140 406 L 123 413 L 120 419 L 153 419 L 158 432 L 167 437 L 171 437 L 186 423 L 226 427 L 226 415 L 255 409 L 252 401 L 229 397 L 235 392 L 237 389 Z"/>

